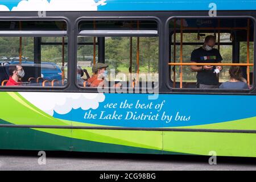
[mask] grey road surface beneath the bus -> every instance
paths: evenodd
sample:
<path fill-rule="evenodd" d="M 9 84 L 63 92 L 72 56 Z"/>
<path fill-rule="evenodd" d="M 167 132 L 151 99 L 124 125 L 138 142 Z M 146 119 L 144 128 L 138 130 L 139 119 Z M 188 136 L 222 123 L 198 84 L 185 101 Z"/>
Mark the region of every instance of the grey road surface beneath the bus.
<path fill-rule="evenodd" d="M 0 150 L 0 171 L 5 170 L 256 170 L 256 158 L 217 157 L 210 165 L 206 156 L 46 152 L 46 164 L 38 151 Z M 42 158 L 41 158 L 42 159 Z"/>

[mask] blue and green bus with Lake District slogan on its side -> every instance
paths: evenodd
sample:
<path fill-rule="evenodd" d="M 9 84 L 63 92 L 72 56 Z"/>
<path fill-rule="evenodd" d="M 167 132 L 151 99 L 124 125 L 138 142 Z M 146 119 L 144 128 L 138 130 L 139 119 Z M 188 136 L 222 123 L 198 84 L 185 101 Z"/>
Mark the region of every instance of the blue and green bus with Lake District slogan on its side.
<path fill-rule="evenodd" d="M 249 0 L 0 1 L 0 149 L 256 157 L 255 18 Z M 191 62 L 208 35 L 222 61 Z M 192 65 L 248 87 L 198 88 Z"/>

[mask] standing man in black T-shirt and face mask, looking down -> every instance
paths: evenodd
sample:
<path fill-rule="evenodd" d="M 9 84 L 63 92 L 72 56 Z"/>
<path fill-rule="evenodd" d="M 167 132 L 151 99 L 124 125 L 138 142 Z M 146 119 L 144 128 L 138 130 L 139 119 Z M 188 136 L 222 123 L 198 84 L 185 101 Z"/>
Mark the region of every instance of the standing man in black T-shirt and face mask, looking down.
<path fill-rule="evenodd" d="M 213 48 L 216 43 L 216 37 L 208 35 L 204 40 L 204 45 L 195 49 L 191 53 L 191 63 L 221 63 L 222 57 L 218 49 Z M 221 66 L 204 65 L 197 66 L 191 65 L 191 70 L 197 72 L 197 88 L 208 89 L 218 88 L 219 82 L 216 73 L 221 71 Z"/>

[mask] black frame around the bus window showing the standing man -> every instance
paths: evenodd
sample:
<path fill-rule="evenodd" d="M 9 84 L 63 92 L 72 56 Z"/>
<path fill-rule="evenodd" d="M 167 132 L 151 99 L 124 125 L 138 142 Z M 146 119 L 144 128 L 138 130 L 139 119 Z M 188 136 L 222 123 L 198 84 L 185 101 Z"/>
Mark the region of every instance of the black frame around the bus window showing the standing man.
<path fill-rule="evenodd" d="M 240 19 L 250 19 L 251 22 L 253 22 L 254 24 L 254 52 L 255 52 L 255 48 L 256 48 L 256 45 L 255 45 L 255 36 L 256 36 L 256 19 L 253 17 L 253 16 L 216 16 L 216 17 L 210 17 L 210 16 L 171 16 L 169 17 L 167 20 L 166 20 L 166 24 L 165 24 L 165 35 L 167 36 L 167 40 L 168 40 L 168 43 L 167 45 L 167 48 L 166 48 L 166 56 L 167 56 L 167 63 L 170 63 L 171 61 L 171 57 L 170 57 L 170 43 L 169 43 L 169 40 L 170 40 L 170 31 L 169 31 L 169 25 L 170 25 L 170 21 L 173 20 L 173 19 L 234 19 L 234 18 L 240 18 Z M 250 88 L 250 89 L 200 89 L 200 88 L 173 88 L 172 85 L 171 85 L 171 77 L 170 76 L 170 66 L 168 65 L 168 71 L 167 71 L 167 83 L 166 83 L 166 86 L 167 88 L 171 91 L 171 92 L 174 92 L 174 93 L 193 93 L 193 94 L 196 94 L 196 93 L 245 93 L 245 94 L 248 94 L 248 93 L 251 93 L 255 88 L 256 88 L 256 55 L 254 53 L 254 59 L 253 59 L 253 63 L 254 63 L 254 66 L 253 66 L 253 69 L 254 69 L 254 72 L 253 72 L 253 78 L 254 78 L 254 82 L 253 82 L 253 86 Z"/>

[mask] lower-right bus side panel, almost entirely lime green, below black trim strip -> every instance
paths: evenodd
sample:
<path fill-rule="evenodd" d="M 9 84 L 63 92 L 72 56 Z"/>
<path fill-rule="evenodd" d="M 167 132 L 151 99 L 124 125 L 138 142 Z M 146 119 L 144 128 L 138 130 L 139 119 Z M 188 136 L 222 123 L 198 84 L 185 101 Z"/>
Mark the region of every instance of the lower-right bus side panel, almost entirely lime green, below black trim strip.
<path fill-rule="evenodd" d="M 163 150 L 192 155 L 256 157 L 256 134 L 248 133 L 163 133 Z"/>

